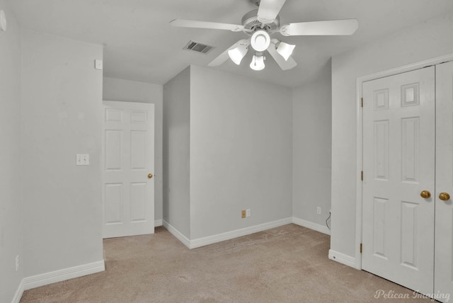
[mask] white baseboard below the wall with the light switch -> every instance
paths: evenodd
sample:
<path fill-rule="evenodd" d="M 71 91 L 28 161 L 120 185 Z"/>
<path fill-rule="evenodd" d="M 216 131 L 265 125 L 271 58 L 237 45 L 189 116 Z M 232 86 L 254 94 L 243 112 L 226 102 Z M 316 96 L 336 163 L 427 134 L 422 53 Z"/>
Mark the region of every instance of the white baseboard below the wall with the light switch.
<path fill-rule="evenodd" d="M 98 261 L 71 268 L 64 268 L 62 270 L 55 270 L 50 273 L 42 273 L 41 275 L 33 275 L 23 279 L 23 290 L 30 290 L 31 288 L 40 287 L 42 285 L 79 278 L 83 275 L 99 273 L 104 270 L 104 261 Z"/>

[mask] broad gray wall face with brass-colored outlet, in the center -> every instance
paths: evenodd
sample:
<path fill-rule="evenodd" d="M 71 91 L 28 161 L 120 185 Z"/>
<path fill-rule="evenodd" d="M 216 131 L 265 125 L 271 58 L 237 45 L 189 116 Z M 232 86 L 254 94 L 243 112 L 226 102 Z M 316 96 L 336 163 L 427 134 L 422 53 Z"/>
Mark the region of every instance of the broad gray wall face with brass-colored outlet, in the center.
<path fill-rule="evenodd" d="M 190 72 L 190 239 L 291 217 L 291 89 Z"/>

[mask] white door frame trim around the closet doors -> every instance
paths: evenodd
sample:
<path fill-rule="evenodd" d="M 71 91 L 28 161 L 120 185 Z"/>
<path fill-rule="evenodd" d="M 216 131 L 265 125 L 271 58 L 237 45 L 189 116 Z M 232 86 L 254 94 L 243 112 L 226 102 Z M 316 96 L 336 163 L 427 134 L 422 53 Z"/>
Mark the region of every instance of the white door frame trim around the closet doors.
<path fill-rule="evenodd" d="M 402 67 L 396 67 L 394 69 L 387 69 L 382 72 L 373 74 L 367 74 L 360 76 L 356 79 L 356 129 L 357 129 L 357 171 L 356 171 L 356 203 L 355 203 L 355 268 L 362 270 L 362 253 L 360 253 L 360 244 L 362 243 L 362 204 L 363 204 L 363 182 L 361 180 L 361 173 L 363 170 L 363 112 L 361 106 L 361 100 L 363 96 L 362 84 L 366 81 L 371 81 L 386 76 L 394 76 L 396 74 L 402 74 L 404 72 L 411 72 L 415 69 L 423 69 L 424 67 L 430 67 L 441 63 L 453 61 L 453 54 L 426 59 L 420 62 L 404 65 Z"/>

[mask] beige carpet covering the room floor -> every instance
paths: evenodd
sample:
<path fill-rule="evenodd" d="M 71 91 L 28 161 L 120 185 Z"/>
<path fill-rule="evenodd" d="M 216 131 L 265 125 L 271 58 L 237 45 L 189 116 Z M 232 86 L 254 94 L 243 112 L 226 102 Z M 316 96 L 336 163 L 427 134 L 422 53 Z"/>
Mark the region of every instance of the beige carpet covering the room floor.
<path fill-rule="evenodd" d="M 189 250 L 166 229 L 104 240 L 106 270 L 25 291 L 25 302 L 430 302 L 328 259 L 330 237 L 294 224 Z M 376 299 L 378 290 L 410 299 Z"/>

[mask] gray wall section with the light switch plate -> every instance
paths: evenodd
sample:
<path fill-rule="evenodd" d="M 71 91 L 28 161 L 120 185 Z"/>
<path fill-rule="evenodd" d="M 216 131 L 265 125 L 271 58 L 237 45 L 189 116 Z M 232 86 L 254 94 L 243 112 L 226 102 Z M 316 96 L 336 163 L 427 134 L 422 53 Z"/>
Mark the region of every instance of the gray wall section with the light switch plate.
<path fill-rule="evenodd" d="M 25 277 L 103 260 L 103 47 L 24 30 L 22 158 Z M 16 67 L 17 68 L 17 67 Z M 77 153 L 89 166 L 76 166 Z"/>

